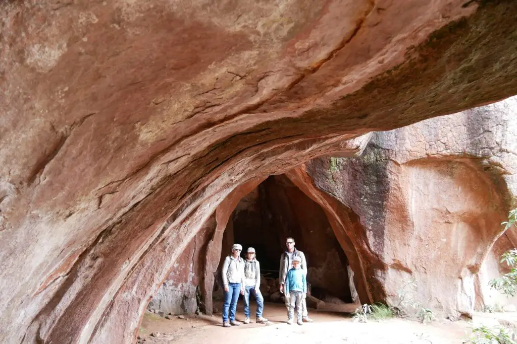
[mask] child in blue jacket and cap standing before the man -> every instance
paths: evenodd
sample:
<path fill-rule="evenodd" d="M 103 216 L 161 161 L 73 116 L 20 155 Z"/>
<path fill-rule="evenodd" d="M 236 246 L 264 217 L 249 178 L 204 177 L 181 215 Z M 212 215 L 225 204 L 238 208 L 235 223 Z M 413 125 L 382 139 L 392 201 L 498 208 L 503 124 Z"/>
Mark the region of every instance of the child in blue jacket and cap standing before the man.
<path fill-rule="evenodd" d="M 285 294 L 289 296 L 289 311 L 287 313 L 287 323 L 293 323 L 294 307 L 296 306 L 297 322 L 298 325 L 303 325 L 301 319 L 301 302 L 303 294 L 307 293 L 307 281 L 305 278 L 305 272 L 300 269 L 300 257 L 293 258 L 293 268 L 287 271 L 285 276 Z"/>

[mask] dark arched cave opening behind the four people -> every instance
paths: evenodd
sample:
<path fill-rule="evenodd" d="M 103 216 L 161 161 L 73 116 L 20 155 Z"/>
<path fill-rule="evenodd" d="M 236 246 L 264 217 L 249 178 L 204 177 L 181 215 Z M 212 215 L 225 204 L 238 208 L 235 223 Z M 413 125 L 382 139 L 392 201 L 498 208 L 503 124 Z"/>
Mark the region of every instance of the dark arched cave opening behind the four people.
<path fill-rule="evenodd" d="M 312 296 L 352 303 L 348 259 L 323 208 L 285 175 L 269 176 L 240 200 L 224 231 L 219 267 L 237 242 L 242 257 L 248 247 L 255 248 L 262 274 L 277 279 L 287 237 L 293 237 L 306 255 Z M 262 292 L 266 297 L 268 292 Z"/>

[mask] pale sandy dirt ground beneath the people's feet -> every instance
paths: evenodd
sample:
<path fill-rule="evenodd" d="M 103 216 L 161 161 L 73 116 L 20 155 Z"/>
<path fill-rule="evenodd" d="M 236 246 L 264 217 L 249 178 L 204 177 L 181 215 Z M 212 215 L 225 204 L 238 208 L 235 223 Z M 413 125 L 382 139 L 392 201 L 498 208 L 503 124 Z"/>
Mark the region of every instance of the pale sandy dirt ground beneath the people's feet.
<path fill-rule="evenodd" d="M 221 309 L 220 304 L 216 304 Z M 353 310 L 356 305 L 344 305 L 340 310 Z M 346 308 L 346 309 L 343 309 Z M 252 306 L 252 321 L 254 321 L 254 308 Z M 356 323 L 351 315 L 342 312 L 329 312 L 328 310 L 309 310 L 313 323 L 302 326 L 286 323 L 286 310 L 282 304 L 266 303 L 264 316 L 269 319 L 268 324 L 221 326 L 221 313 L 209 317 L 205 315 L 185 316 L 184 319 L 172 317 L 164 319 L 152 313 L 146 313 L 141 325 L 140 338 L 144 343 L 159 344 L 265 344 L 282 343 L 288 339 L 290 342 L 305 343 L 462 343 L 462 339 L 468 337 L 472 327 L 484 324 L 486 326 L 498 325 L 502 322 L 517 323 L 515 313 L 479 313 L 474 316 L 472 322 L 439 319 L 431 324 L 421 324 L 416 321 L 404 319 L 389 319 L 379 322 Z M 242 304 L 237 307 L 237 320 L 244 320 Z M 158 338 L 151 336 L 153 332 L 159 332 Z"/>

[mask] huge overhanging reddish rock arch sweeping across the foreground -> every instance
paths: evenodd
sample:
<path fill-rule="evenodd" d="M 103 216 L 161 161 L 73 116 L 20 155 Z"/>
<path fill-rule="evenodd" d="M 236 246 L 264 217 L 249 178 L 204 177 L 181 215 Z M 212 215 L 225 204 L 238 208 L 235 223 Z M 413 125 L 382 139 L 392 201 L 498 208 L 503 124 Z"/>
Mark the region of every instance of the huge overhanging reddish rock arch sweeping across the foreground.
<path fill-rule="evenodd" d="M 0 339 L 133 341 L 238 185 L 517 93 L 516 6 L 2 2 Z"/>

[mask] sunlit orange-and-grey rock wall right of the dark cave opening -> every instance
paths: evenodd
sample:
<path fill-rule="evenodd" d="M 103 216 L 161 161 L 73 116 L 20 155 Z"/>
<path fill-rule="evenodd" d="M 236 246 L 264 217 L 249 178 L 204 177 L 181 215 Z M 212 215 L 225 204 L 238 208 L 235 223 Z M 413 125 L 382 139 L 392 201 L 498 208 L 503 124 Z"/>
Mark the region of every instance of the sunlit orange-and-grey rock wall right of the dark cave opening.
<path fill-rule="evenodd" d="M 510 98 L 375 133 L 357 158 L 315 159 L 290 172 L 308 172 L 353 212 L 356 229 L 341 230 L 356 244 L 374 300 L 397 304 L 413 278 L 418 301 L 438 312 L 472 314 L 476 294 L 482 302 L 483 260 L 511 247 L 501 241 L 491 253 L 515 204 L 516 110 Z"/>

